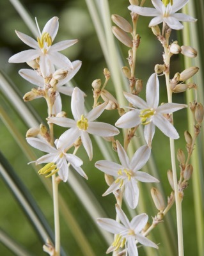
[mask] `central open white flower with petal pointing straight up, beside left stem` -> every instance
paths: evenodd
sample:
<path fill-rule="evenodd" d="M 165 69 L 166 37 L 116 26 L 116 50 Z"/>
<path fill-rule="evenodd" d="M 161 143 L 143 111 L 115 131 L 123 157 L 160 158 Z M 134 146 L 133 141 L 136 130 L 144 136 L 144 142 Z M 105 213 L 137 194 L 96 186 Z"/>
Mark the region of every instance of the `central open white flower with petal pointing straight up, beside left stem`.
<path fill-rule="evenodd" d="M 113 125 L 93 122 L 98 118 L 106 108 L 106 103 L 97 106 L 97 108 L 92 109 L 89 113 L 84 113 L 84 94 L 79 90 L 79 88 L 74 88 L 72 93 L 72 115 L 74 120 L 65 117 L 53 117 L 49 118 L 49 122 L 53 124 L 60 125 L 62 127 L 70 127 L 67 131 L 61 134 L 58 140 L 58 148 L 70 147 L 77 138 L 81 137 L 82 144 L 90 157 L 93 156 L 93 148 L 90 140 L 90 134 L 109 137 L 114 136 L 119 133 L 118 129 Z"/>

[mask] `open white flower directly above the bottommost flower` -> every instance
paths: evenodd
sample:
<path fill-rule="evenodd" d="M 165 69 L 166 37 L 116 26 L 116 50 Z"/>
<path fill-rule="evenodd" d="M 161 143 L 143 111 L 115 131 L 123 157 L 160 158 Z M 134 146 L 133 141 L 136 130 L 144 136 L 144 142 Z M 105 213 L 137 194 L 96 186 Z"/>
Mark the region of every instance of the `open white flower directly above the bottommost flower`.
<path fill-rule="evenodd" d="M 130 208 L 136 208 L 139 198 L 139 188 L 137 181 L 141 182 L 159 182 L 159 180 L 152 177 L 145 172 L 139 172 L 139 170 L 146 164 L 150 158 L 151 150 L 147 145 L 144 145 L 137 149 L 134 156 L 130 160 L 127 156 L 122 145 L 119 141 L 116 141 L 118 148 L 118 157 L 120 163 L 113 163 L 107 160 L 97 161 L 95 166 L 104 173 L 116 177 L 116 180 L 109 186 L 104 193 L 108 195 L 118 189 L 125 187 L 125 198 Z"/>

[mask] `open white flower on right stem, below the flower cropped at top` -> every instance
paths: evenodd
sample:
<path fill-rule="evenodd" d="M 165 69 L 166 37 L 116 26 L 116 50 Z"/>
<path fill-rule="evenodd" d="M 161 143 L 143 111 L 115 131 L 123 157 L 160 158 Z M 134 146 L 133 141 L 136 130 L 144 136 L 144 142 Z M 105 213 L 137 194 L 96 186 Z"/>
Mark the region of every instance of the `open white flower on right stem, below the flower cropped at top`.
<path fill-rule="evenodd" d="M 152 139 L 157 126 L 166 136 L 174 140 L 179 138 L 178 132 L 173 125 L 164 117 L 165 114 L 173 113 L 179 109 L 187 108 L 185 104 L 166 103 L 159 105 L 159 79 L 153 73 L 146 84 L 146 102 L 136 95 L 124 92 L 125 98 L 135 107 L 116 122 L 120 128 L 132 128 L 139 124 L 145 126 L 144 134 L 146 143 L 151 147 Z"/>

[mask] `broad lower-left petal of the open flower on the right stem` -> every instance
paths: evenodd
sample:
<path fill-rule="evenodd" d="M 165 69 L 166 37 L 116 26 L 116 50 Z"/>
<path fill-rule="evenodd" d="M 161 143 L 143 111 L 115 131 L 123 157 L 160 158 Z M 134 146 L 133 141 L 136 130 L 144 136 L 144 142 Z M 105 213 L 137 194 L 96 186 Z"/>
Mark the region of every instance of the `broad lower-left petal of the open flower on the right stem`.
<path fill-rule="evenodd" d="M 140 115 L 139 109 L 131 110 L 125 113 L 124 115 L 122 115 L 118 119 L 115 125 L 120 128 L 136 127 L 141 122 L 139 115 Z"/>

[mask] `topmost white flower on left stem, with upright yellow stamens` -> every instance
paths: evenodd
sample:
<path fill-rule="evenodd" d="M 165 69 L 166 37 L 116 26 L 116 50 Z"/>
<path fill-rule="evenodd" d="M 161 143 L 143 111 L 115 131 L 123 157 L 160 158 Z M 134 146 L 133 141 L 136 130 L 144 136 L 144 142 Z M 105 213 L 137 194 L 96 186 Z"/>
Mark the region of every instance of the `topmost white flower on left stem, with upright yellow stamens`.
<path fill-rule="evenodd" d="M 54 65 L 59 68 L 72 70 L 73 67 L 71 61 L 58 51 L 62 51 L 74 45 L 77 40 L 65 40 L 52 45 L 58 32 L 58 28 L 58 17 L 53 17 L 45 24 L 42 33 L 40 33 L 40 29 L 38 29 L 40 34 L 37 38 L 38 42 L 24 33 L 15 31 L 20 40 L 33 49 L 19 52 L 13 55 L 8 61 L 22 63 L 40 58 L 39 65 L 43 77 L 49 77 L 50 74 L 54 73 Z"/>

